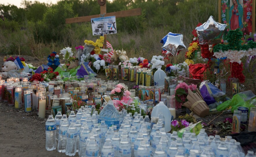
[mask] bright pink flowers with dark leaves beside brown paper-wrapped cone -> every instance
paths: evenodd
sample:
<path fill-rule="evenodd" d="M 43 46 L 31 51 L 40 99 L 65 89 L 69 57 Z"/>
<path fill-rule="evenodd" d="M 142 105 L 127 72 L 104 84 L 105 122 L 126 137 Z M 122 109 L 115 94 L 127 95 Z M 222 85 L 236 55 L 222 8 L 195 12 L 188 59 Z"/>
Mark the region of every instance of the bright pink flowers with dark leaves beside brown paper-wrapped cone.
<path fill-rule="evenodd" d="M 176 103 L 176 109 L 181 108 L 182 104 L 187 102 L 187 95 L 188 95 L 188 89 L 190 89 L 192 92 L 196 92 L 197 85 L 191 84 L 188 85 L 185 82 L 179 83 L 175 88 L 175 103 Z"/>

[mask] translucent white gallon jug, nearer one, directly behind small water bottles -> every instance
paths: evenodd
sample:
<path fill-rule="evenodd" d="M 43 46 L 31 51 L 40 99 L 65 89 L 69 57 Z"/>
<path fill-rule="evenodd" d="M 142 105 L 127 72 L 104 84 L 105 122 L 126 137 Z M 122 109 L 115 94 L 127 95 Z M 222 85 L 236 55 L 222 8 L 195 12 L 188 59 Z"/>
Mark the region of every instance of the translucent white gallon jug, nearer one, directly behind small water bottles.
<path fill-rule="evenodd" d="M 169 132 L 171 130 L 171 118 L 172 115 L 166 105 L 164 105 L 163 101 L 160 101 L 157 104 L 151 113 L 151 117 L 157 117 L 159 113 L 162 113 L 165 119 L 165 132 Z"/>

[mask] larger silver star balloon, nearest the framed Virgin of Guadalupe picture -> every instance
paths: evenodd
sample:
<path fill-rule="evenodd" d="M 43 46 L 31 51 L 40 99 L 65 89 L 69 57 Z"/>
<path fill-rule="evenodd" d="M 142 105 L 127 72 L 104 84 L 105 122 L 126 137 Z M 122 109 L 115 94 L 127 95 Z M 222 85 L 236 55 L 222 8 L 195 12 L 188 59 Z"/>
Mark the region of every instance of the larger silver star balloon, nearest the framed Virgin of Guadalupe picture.
<path fill-rule="evenodd" d="M 195 28 L 200 44 L 209 44 L 209 50 L 212 50 L 212 44 L 221 43 L 223 34 L 227 29 L 226 24 L 218 23 L 212 16 L 199 27 Z"/>

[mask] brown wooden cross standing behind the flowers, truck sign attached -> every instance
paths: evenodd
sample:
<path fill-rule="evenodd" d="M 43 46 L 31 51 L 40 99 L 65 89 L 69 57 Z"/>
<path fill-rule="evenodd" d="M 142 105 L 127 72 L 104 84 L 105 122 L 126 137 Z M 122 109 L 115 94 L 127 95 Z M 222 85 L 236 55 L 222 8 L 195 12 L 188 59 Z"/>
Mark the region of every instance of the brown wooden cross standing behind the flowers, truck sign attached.
<path fill-rule="evenodd" d="M 141 15 L 141 8 L 118 11 L 118 12 L 110 12 L 106 13 L 106 0 L 98 0 L 100 5 L 100 14 L 104 15 L 104 17 L 115 16 L 118 17 L 130 17 L 130 16 L 138 16 Z M 79 22 L 88 22 L 91 21 L 91 18 L 97 18 L 99 15 L 90 15 L 90 16 L 83 16 L 83 17 L 75 17 L 66 19 L 66 23 L 79 23 Z M 104 34 L 104 48 L 106 49 L 107 43 L 107 36 Z"/>

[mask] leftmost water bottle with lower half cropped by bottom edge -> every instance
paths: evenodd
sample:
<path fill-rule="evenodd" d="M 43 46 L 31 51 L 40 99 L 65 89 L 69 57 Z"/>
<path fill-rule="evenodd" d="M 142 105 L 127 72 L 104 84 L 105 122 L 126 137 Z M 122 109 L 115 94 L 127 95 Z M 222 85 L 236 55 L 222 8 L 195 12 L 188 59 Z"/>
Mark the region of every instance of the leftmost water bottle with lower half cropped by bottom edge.
<path fill-rule="evenodd" d="M 99 156 L 99 145 L 95 140 L 95 137 L 90 137 L 90 141 L 86 145 L 86 157 Z"/>

